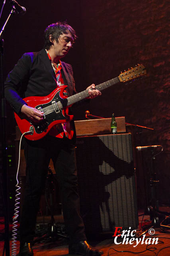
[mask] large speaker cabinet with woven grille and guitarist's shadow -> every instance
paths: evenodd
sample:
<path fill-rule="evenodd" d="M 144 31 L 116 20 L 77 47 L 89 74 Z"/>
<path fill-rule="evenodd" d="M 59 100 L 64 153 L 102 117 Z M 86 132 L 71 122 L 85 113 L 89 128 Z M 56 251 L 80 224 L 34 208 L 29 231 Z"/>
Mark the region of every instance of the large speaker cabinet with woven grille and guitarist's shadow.
<path fill-rule="evenodd" d="M 131 134 L 77 138 L 80 214 L 86 233 L 138 226 Z"/>

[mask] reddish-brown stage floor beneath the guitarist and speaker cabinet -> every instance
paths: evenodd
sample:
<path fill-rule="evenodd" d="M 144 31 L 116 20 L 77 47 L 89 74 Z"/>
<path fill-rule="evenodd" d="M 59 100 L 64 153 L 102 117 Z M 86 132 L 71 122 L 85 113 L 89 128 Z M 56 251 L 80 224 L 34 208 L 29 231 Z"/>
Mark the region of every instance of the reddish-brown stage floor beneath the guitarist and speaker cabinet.
<path fill-rule="evenodd" d="M 170 212 L 170 208 L 164 207 L 160 210 L 165 212 Z M 142 214 L 142 211 L 139 211 L 139 215 Z M 49 220 L 49 216 L 45 216 L 45 222 Z M 55 220 L 60 222 L 62 226 L 63 217 L 55 216 Z M 141 224 L 142 216 L 139 216 L 139 227 Z M 37 218 L 37 225 L 41 226 L 42 218 Z M 1 222 L 2 223 L 2 222 Z M 150 216 L 144 216 L 142 226 L 146 226 L 150 224 Z M 167 218 L 166 225 L 170 225 L 170 218 Z M 150 227 L 150 226 L 148 226 Z M 10 226 L 11 229 L 11 226 Z M 167 230 L 168 231 L 168 230 Z M 153 227 L 150 230 L 150 235 L 147 232 L 145 235 L 145 239 L 141 238 L 139 241 L 139 232 L 137 230 L 135 236 L 125 236 L 122 238 L 118 238 L 115 240 L 113 234 L 107 234 L 107 238 L 104 236 L 96 236 L 89 238 L 88 242 L 92 246 L 96 246 L 96 248 L 104 251 L 104 256 L 132 256 L 132 255 L 141 255 L 141 256 L 170 256 L 170 233 L 164 233 L 162 228 Z M 155 232 L 155 233 L 154 233 Z M 170 229 L 169 229 L 170 232 Z M 3 224 L 0 224 L 0 233 L 3 233 Z M 153 234 L 154 233 L 154 234 Z M 2 237 L 2 236 L 1 236 Z M 128 238 L 128 240 L 127 240 Z M 130 240 L 131 238 L 135 238 L 135 240 Z M 137 240 L 138 238 L 138 240 Z M 158 238 L 158 240 L 153 240 L 153 238 Z M 157 244 L 156 241 L 158 242 Z M 115 244 L 115 242 L 119 244 Z M 126 243 L 127 242 L 127 243 Z M 137 244 L 139 242 L 139 244 Z M 153 244 L 152 244 L 153 242 Z M 150 244 L 149 244 L 150 243 Z M 10 250 L 11 250 L 11 240 L 10 240 Z M 137 245 L 136 245 L 137 244 Z M 3 255 L 4 241 L 0 241 L 0 256 Z M 41 240 L 37 244 L 33 246 L 34 256 L 56 256 L 56 255 L 68 255 L 68 240 L 66 238 L 61 238 L 58 236 L 58 239 L 54 239 L 54 241 L 50 238 Z M 17 241 L 17 253 L 19 252 L 19 242 Z M 135 253 L 135 254 L 134 254 Z"/>

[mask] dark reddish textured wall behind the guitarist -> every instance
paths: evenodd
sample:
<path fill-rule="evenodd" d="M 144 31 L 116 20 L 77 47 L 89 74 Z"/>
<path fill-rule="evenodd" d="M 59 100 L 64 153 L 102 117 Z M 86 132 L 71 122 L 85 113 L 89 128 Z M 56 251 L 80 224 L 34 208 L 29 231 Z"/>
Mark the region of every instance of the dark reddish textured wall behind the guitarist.
<path fill-rule="evenodd" d="M 154 170 L 160 180 L 158 198 L 161 203 L 169 204 L 168 0 L 20 0 L 20 4 L 27 9 L 26 14 L 13 16 L 4 32 L 4 76 L 23 52 L 37 51 L 43 47 L 45 27 L 57 20 L 67 20 L 78 34 L 74 48 L 64 60 L 73 66 L 78 92 L 92 83 L 100 84 L 115 78 L 135 64 L 142 63 L 146 67 L 149 77 L 104 90 L 101 97 L 75 111 L 75 120 L 85 119 L 84 111 L 88 109 L 92 114 L 104 117 L 111 117 L 114 112 L 115 116 L 125 116 L 128 123 L 154 128 L 154 131 L 133 128 L 135 146 L 163 146 L 163 152 L 154 161 Z M 1 26 L 9 10 L 8 2 Z M 9 107 L 7 121 L 10 122 L 8 140 L 12 140 L 15 123 Z M 137 158 L 140 158 L 137 168 L 139 198 L 145 194 L 141 178 L 149 172 L 150 157 L 150 152 L 144 152 L 143 156 L 137 153 Z"/>

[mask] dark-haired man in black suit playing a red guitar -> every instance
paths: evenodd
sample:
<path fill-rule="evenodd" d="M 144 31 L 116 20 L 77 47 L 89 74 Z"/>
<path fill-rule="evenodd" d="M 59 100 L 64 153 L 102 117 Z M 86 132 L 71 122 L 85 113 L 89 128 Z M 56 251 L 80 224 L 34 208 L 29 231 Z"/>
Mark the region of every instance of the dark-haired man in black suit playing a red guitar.
<path fill-rule="evenodd" d="M 63 94 L 76 94 L 70 64 L 61 62 L 76 40 L 74 29 L 66 22 L 57 22 L 45 29 L 45 47 L 40 52 L 23 54 L 5 82 L 5 96 L 16 114 L 39 124 L 45 110 L 33 108 L 25 97 L 45 97 L 59 86 L 67 85 Z M 92 84 L 86 88 L 88 98 L 101 95 Z M 71 112 L 71 110 L 69 109 Z M 25 131 L 27 132 L 27 131 Z M 19 256 L 33 255 L 31 243 L 35 234 L 36 216 L 49 161 L 52 158 L 63 205 L 63 216 L 69 237 L 69 254 L 101 255 L 102 251 L 86 242 L 84 223 L 79 213 L 77 170 L 75 159 L 76 131 L 73 120 L 55 124 L 46 136 L 38 140 L 23 138 L 26 161 L 25 199 L 20 222 Z"/>

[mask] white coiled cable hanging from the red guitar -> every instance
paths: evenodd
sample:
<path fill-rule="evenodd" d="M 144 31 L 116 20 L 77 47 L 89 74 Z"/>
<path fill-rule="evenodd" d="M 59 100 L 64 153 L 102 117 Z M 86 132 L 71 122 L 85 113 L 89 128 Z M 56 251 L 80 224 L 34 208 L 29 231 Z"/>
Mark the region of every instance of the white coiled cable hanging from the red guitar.
<path fill-rule="evenodd" d="M 19 158 L 18 158 L 18 169 L 17 169 L 17 174 L 16 174 L 16 199 L 15 199 L 15 208 L 14 208 L 14 217 L 13 217 L 13 226 L 12 226 L 12 246 L 11 246 L 11 250 L 12 250 L 12 254 L 11 256 L 16 256 L 16 250 L 17 250 L 17 227 L 18 227 L 18 214 L 19 214 L 19 209 L 20 209 L 20 186 L 18 186 L 19 182 L 18 182 L 18 172 L 19 172 L 19 168 L 20 168 L 20 151 L 21 151 L 21 140 L 23 138 L 23 136 L 28 135 L 28 134 L 33 134 L 33 130 L 30 130 L 29 132 L 24 132 L 20 138 L 20 146 L 19 146 Z"/>

